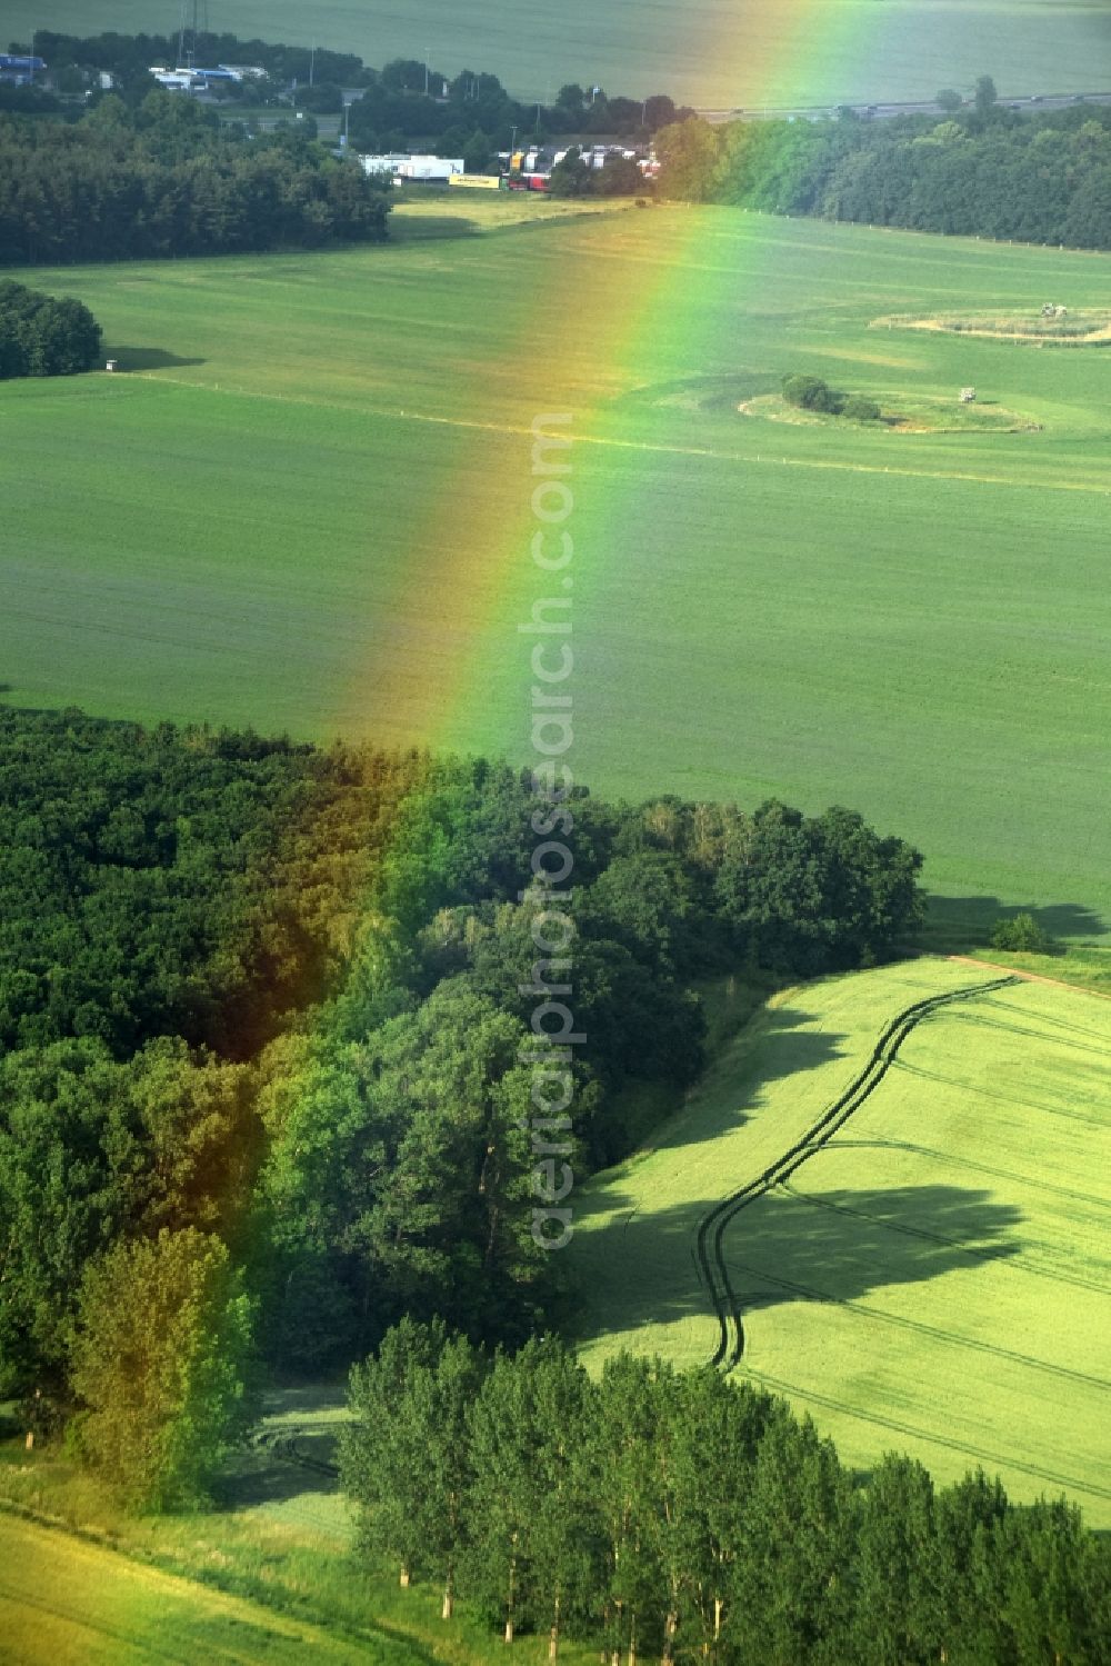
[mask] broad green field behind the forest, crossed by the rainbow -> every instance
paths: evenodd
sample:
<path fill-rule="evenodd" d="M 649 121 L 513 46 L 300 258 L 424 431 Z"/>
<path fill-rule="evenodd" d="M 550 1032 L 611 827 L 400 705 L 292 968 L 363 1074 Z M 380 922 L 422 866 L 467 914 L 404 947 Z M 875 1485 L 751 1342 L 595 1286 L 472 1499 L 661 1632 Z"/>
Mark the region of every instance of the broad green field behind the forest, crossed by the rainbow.
<path fill-rule="evenodd" d="M 1093 307 L 1106 257 L 556 207 L 33 273 L 123 373 L 0 390 L 5 696 L 528 758 L 530 426 L 568 413 L 581 778 L 849 803 L 939 898 L 1099 933 L 1111 355 L 873 323 Z M 740 410 L 800 370 L 1031 431 Z"/>

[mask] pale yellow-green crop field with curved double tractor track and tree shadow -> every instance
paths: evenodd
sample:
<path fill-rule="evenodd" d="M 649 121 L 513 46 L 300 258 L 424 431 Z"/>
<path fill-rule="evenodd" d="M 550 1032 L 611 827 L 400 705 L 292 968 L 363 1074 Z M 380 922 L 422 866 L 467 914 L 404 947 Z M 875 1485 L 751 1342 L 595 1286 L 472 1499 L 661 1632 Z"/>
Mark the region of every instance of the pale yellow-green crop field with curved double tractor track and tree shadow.
<path fill-rule="evenodd" d="M 716 1358 L 864 1469 L 983 1464 L 1111 1524 L 1111 1005 L 998 980 L 919 961 L 776 996 L 580 1193 L 586 1363 Z"/>

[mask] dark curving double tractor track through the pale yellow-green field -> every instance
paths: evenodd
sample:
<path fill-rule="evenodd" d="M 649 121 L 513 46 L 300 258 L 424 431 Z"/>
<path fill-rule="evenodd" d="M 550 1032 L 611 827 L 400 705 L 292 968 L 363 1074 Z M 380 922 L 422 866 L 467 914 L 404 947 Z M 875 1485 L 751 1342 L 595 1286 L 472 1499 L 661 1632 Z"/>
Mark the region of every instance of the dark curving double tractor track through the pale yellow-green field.
<path fill-rule="evenodd" d="M 741 1210 L 748 1208 L 750 1203 L 766 1196 L 775 1186 L 790 1180 L 803 1163 L 806 1163 L 811 1156 L 816 1156 L 816 1153 L 821 1151 L 841 1128 L 844 1128 L 849 1116 L 853 1116 L 864 1100 L 868 1100 L 869 1095 L 879 1086 L 911 1030 L 923 1023 L 924 1018 L 929 1018 L 944 1006 L 953 1006 L 959 1001 L 971 1001 L 976 1000 L 976 996 L 1009 988 L 1019 981 L 1021 980 L 1018 976 L 1008 973 L 1003 978 L 993 978 L 988 983 L 974 983 L 964 990 L 948 990 L 944 995 L 929 995 L 921 1001 L 913 1001 L 911 1006 L 903 1008 L 903 1011 L 898 1013 L 879 1035 L 879 1040 L 876 1041 L 871 1058 L 864 1068 L 858 1071 L 833 1105 L 826 1106 L 803 1138 L 776 1158 L 776 1161 L 771 1163 L 761 1175 L 750 1180 L 745 1186 L 738 1186 L 736 1191 L 731 1191 L 726 1198 L 716 1203 L 713 1210 L 703 1215 L 695 1235 L 693 1256 L 698 1281 L 710 1296 L 715 1318 L 718 1321 L 718 1344 L 711 1354 L 711 1364 L 720 1366 L 725 1371 L 731 1371 L 745 1353 L 745 1321 L 741 1318 L 740 1301 L 730 1284 L 730 1271 L 725 1264 L 723 1253 L 723 1240 L 730 1223 L 741 1213 Z"/>

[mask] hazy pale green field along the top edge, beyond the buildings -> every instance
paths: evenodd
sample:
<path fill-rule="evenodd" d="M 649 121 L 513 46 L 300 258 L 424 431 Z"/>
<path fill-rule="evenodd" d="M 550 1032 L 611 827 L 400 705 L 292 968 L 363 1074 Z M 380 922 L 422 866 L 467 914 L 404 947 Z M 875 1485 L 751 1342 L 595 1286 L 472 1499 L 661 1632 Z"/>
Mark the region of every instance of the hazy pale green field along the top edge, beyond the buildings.
<path fill-rule="evenodd" d="M 570 0 L 526 15 L 498 0 L 210 0 L 205 10 L 213 30 L 245 38 L 316 40 L 373 65 L 430 57 L 448 75 L 493 70 L 521 98 L 576 80 L 710 107 L 818 105 L 931 98 L 983 72 L 1004 92 L 1094 92 L 1111 58 L 1111 18 L 1096 0 Z M 25 40 L 32 28 L 175 33 L 180 7 L 8 0 L 5 17 Z"/>

